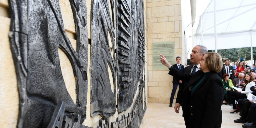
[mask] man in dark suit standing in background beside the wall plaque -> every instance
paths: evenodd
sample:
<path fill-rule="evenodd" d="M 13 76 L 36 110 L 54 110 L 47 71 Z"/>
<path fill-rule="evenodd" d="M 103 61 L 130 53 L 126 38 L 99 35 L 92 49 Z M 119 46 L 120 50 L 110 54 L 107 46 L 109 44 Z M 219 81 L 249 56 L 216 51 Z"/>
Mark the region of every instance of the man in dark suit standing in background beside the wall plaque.
<path fill-rule="evenodd" d="M 180 70 L 181 72 L 184 72 L 185 68 L 181 64 L 181 57 L 180 56 L 176 57 L 176 64 L 174 64 L 173 67 Z M 178 85 L 179 85 L 179 88 L 180 88 L 181 83 L 182 83 L 182 81 L 179 78 L 173 77 L 173 79 L 172 79 L 172 86 L 173 87 L 172 87 L 172 94 L 171 94 L 171 98 L 170 98 L 169 107 L 172 107 L 172 102 L 173 102 L 173 99 L 174 99 L 174 95 L 176 93 Z"/>

